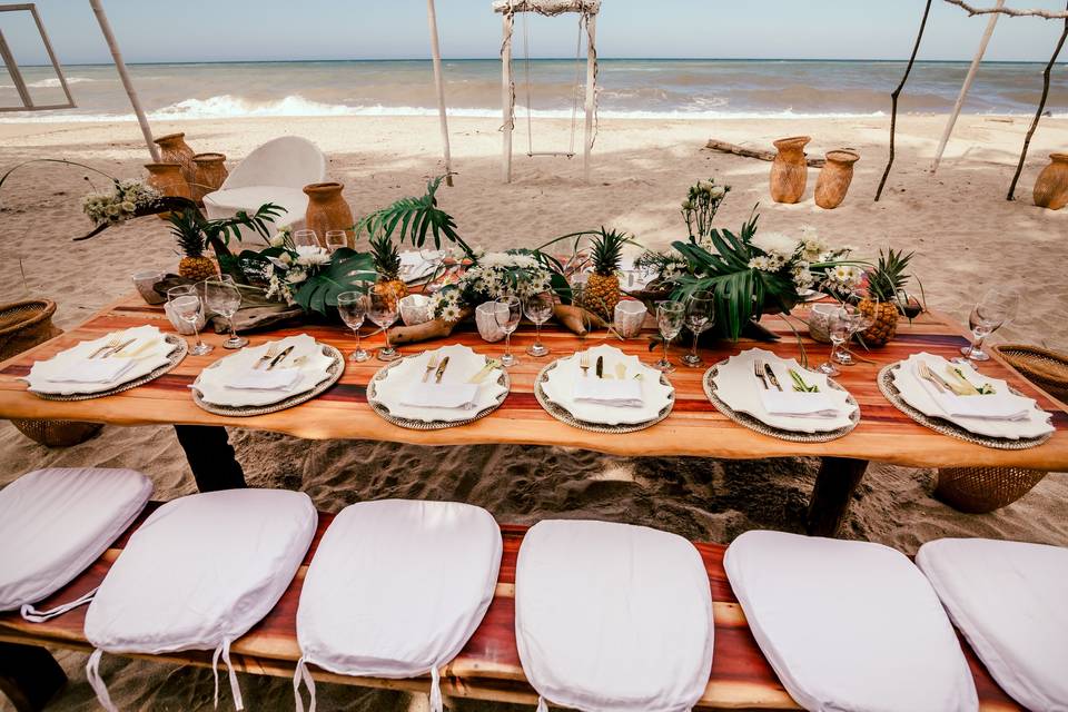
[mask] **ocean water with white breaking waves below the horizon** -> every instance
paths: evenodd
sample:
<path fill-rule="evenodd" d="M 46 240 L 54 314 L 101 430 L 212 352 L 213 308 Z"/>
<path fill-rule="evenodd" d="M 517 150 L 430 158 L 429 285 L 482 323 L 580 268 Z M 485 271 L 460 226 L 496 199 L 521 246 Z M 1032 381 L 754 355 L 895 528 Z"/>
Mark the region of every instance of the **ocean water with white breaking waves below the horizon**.
<path fill-rule="evenodd" d="M 898 61 L 647 60 L 604 59 L 597 79 L 601 118 L 761 118 L 881 116 L 904 68 Z M 65 68 L 77 109 L 12 112 L 3 121 L 132 120 L 111 66 Z M 419 116 L 436 112 L 431 62 L 301 61 L 131 65 L 141 102 L 154 119 L 238 116 Z M 1040 63 L 981 66 L 965 107 L 968 113 L 1028 115 L 1041 92 Z M 945 113 L 957 98 L 967 62 L 918 62 L 900 110 Z M 0 72 L 3 70 L 0 69 Z M 571 117 L 584 65 L 516 60 L 516 116 Z M 501 63 L 496 59 L 446 60 L 446 101 L 452 116 L 501 116 Z M 527 83 L 527 76 L 530 82 Z M 60 101 L 51 68 L 29 67 L 23 78 L 37 103 Z M 18 103 L 0 73 L 0 105 Z M 1047 109 L 1068 116 L 1068 69 L 1056 68 Z"/>

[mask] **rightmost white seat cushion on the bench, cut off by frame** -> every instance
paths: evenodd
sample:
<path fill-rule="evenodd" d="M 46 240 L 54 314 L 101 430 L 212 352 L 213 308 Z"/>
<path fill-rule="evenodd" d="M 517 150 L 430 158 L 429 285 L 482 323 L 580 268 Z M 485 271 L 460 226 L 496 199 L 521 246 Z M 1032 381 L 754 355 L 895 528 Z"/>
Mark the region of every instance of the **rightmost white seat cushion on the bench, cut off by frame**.
<path fill-rule="evenodd" d="M 943 538 L 921 546 L 916 563 L 1013 700 L 1068 710 L 1068 548 Z"/>

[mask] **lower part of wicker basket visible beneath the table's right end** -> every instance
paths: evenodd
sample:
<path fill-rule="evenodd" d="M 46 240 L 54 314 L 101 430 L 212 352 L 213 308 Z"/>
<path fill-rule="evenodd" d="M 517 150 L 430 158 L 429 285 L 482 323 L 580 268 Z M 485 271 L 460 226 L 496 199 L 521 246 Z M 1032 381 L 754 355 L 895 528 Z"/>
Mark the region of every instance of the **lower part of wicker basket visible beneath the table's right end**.
<path fill-rule="evenodd" d="M 938 471 L 934 496 L 959 512 L 986 514 L 1012 504 L 1045 476 L 1020 467 L 945 467 Z"/>

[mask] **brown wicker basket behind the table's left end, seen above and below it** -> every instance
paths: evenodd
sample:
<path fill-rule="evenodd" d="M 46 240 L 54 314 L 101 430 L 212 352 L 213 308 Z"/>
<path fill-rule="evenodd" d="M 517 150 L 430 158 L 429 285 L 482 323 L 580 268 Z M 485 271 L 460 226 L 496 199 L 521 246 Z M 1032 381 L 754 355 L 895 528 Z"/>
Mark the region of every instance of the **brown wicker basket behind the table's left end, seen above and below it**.
<path fill-rule="evenodd" d="M 29 299 L 0 305 L 0 362 L 17 356 L 53 336 L 62 329 L 52 324 L 56 303 L 51 299 Z M 48 447 L 68 447 L 82 443 L 102 427 L 98 423 L 75 421 L 11 421 L 23 435 Z"/>

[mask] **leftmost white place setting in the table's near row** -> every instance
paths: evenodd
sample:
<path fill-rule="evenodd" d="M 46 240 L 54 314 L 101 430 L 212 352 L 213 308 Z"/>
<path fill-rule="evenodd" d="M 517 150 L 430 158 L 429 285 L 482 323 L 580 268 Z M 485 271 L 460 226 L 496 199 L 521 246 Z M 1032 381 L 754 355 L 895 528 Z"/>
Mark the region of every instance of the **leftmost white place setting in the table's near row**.
<path fill-rule="evenodd" d="M 111 332 L 34 362 L 21 378 L 47 400 L 87 400 L 158 378 L 186 357 L 185 339 L 155 326 Z"/>

